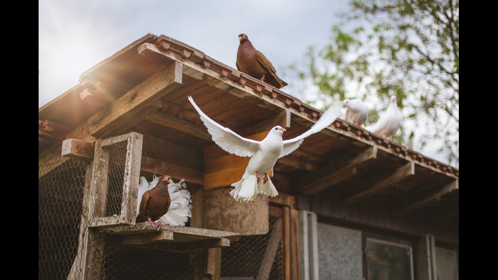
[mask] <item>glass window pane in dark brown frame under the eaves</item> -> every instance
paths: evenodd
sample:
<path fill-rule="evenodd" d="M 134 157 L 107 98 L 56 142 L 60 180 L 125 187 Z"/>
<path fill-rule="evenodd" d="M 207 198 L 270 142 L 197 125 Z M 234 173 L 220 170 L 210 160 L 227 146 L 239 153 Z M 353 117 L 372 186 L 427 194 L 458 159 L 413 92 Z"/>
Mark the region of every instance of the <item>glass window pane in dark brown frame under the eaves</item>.
<path fill-rule="evenodd" d="M 368 280 L 412 280 L 412 247 L 367 238 Z"/>

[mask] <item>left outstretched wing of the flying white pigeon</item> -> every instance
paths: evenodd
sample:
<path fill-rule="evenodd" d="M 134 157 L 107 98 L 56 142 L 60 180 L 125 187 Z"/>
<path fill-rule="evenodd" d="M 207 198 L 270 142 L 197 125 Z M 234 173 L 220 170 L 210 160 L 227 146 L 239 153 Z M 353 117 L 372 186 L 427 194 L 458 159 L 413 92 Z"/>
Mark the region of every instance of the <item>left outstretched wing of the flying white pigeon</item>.
<path fill-rule="evenodd" d="M 201 120 L 204 122 L 209 134 L 211 134 L 214 143 L 222 149 L 239 157 L 251 157 L 259 149 L 259 141 L 244 138 L 231 129 L 221 126 L 204 114 L 190 96 L 189 101 L 201 116 Z"/>

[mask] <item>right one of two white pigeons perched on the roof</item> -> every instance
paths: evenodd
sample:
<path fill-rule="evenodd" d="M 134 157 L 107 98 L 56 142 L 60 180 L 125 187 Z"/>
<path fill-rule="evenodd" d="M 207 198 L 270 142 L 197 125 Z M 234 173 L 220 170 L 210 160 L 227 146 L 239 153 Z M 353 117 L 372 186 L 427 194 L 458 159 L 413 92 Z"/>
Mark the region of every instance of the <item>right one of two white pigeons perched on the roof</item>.
<path fill-rule="evenodd" d="M 375 125 L 365 128 L 366 130 L 373 132 L 385 139 L 391 139 L 391 137 L 398 131 L 401 127 L 401 122 L 403 118 L 401 117 L 401 112 L 396 104 L 396 96 L 391 96 L 390 104 L 387 107 L 384 114 L 381 115 Z"/>

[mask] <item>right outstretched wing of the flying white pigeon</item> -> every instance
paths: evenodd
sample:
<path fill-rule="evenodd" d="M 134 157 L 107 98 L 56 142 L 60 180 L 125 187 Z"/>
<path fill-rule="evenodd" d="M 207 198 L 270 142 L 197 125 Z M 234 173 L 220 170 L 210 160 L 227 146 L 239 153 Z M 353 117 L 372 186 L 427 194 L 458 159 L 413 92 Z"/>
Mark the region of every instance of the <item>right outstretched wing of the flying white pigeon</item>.
<path fill-rule="evenodd" d="M 335 102 L 334 104 L 332 104 L 332 106 L 330 106 L 327 109 L 327 111 L 325 111 L 322 114 L 320 119 L 318 119 L 318 121 L 315 122 L 315 125 L 313 125 L 311 128 L 309 128 L 308 131 L 306 131 L 305 133 L 303 133 L 295 138 L 285 140 L 284 141 L 284 150 L 282 150 L 282 154 L 280 155 L 280 158 L 285 157 L 289 153 L 291 153 L 294 150 L 296 150 L 297 148 L 299 148 L 301 143 L 304 141 L 304 138 L 306 138 L 312 134 L 315 134 L 317 132 L 320 132 L 324 128 L 330 126 L 330 124 L 332 122 L 334 122 L 334 120 L 339 115 L 341 107 L 342 107 L 342 105 L 339 102 Z"/>

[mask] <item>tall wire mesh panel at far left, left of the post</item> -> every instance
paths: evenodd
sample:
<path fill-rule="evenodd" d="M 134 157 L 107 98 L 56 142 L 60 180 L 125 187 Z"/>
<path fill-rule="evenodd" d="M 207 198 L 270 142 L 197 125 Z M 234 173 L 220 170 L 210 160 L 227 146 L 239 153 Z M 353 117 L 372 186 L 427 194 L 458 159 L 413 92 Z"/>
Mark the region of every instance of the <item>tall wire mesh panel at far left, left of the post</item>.
<path fill-rule="evenodd" d="M 38 279 L 66 279 L 70 274 L 90 162 L 69 159 L 38 180 Z"/>

